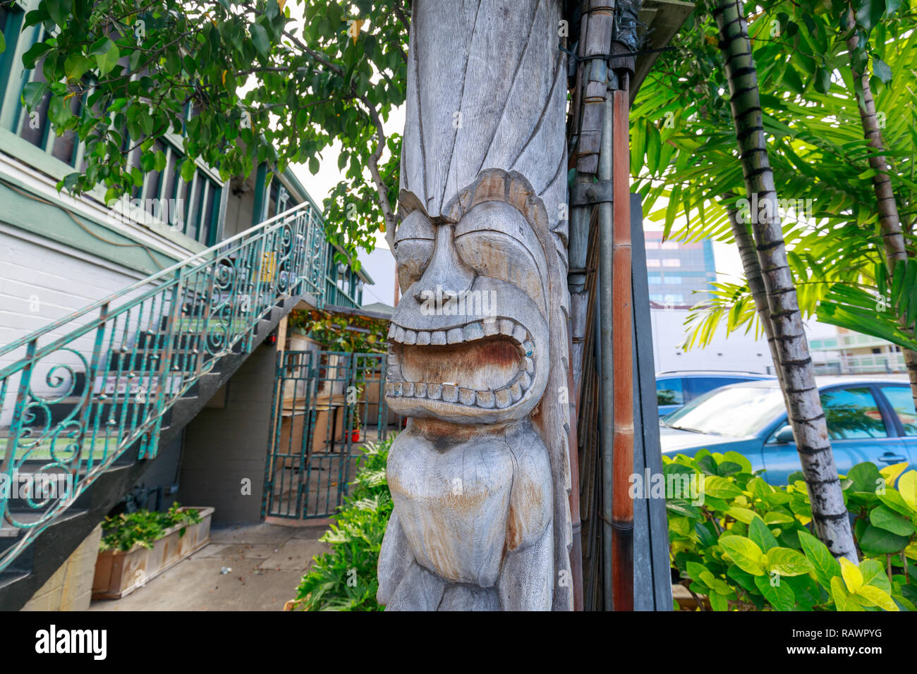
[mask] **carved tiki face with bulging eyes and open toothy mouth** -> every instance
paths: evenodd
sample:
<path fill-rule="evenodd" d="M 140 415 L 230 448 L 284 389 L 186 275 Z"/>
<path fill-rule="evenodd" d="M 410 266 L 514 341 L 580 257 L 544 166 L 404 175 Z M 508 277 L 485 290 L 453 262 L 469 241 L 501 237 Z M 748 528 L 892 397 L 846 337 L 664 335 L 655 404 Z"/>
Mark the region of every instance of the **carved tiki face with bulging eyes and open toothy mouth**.
<path fill-rule="evenodd" d="M 547 385 L 544 205 L 520 174 L 488 170 L 449 206 L 437 218 L 415 208 L 395 232 L 403 298 L 386 402 L 455 424 L 512 422 Z"/>

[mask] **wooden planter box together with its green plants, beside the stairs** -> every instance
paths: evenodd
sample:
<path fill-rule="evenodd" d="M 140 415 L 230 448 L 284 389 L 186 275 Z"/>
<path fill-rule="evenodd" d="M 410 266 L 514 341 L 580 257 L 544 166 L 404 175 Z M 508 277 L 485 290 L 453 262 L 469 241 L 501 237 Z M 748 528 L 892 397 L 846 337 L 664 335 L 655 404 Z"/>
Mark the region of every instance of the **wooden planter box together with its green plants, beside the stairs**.
<path fill-rule="evenodd" d="M 165 513 L 106 517 L 95 561 L 93 599 L 119 599 L 210 542 L 214 508 L 173 503 Z"/>

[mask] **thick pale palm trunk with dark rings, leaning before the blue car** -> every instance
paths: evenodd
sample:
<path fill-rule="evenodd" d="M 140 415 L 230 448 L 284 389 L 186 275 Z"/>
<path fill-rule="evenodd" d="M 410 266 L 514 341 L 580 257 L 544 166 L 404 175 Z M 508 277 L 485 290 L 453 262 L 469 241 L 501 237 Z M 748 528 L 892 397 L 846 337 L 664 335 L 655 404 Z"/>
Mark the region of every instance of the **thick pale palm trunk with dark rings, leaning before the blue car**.
<path fill-rule="evenodd" d="M 816 534 L 834 557 L 845 557 L 856 563 L 856 547 L 847 519 L 844 493 L 828 440 L 809 342 L 802 329 L 802 315 L 783 243 L 744 8 L 739 0 L 718 0 L 713 13 L 720 31 L 720 50 L 725 59 L 746 193 L 753 203 L 757 198 L 760 205 L 760 209 L 752 213 L 752 232 L 783 375 L 781 385 L 802 474 L 812 500 L 812 522 Z"/>

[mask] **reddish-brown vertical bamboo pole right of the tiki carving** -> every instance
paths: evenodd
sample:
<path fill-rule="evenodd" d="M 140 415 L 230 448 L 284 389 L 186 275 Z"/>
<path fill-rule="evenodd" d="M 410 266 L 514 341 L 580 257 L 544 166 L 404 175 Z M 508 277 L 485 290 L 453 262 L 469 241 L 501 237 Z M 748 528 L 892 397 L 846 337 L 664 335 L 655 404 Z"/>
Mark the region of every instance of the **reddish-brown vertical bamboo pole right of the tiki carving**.
<path fill-rule="evenodd" d="M 612 497 L 613 602 L 615 611 L 634 610 L 634 501 L 628 493 L 634 472 L 633 295 L 631 288 L 630 150 L 628 75 L 613 99 L 613 341 L 614 440 Z"/>

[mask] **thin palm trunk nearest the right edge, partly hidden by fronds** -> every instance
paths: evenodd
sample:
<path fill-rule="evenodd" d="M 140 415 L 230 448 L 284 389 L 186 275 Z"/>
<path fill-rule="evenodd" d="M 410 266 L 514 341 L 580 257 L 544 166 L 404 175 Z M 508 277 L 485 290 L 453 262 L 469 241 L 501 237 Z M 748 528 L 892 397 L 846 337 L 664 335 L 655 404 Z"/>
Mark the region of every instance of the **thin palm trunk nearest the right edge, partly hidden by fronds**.
<path fill-rule="evenodd" d="M 850 35 L 847 37 L 847 50 L 850 52 L 850 72 L 854 76 L 854 94 L 856 94 L 857 107 L 860 113 L 860 124 L 863 127 L 863 136 L 869 141 L 869 147 L 874 149 L 873 156 L 869 158 L 869 168 L 876 171 L 872 177 L 872 189 L 876 193 L 878 206 L 878 223 L 882 230 L 882 241 L 885 248 L 885 260 L 891 271 L 899 261 L 906 264 L 908 259 L 907 249 L 904 247 L 904 234 L 901 231 L 901 220 L 898 214 L 898 202 L 891 188 L 889 171 L 891 167 L 885 156 L 885 138 L 878 127 L 876 118 L 876 100 L 872 96 L 872 86 L 869 84 L 869 70 L 856 67 L 856 50 L 859 46 L 859 31 L 853 9 L 847 10 L 847 26 Z M 908 369 L 908 378 L 911 381 L 911 396 L 917 405 L 917 352 L 910 348 L 902 349 L 904 364 Z"/>

